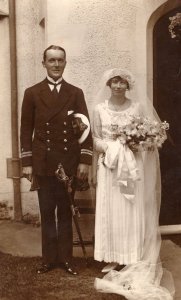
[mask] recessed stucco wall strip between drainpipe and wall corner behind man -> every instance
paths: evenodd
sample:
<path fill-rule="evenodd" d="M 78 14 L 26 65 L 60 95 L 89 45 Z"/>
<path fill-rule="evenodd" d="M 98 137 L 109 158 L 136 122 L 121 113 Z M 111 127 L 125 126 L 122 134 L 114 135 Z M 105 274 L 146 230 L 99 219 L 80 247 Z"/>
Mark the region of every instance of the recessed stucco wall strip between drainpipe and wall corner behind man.
<path fill-rule="evenodd" d="M 45 37 L 44 26 L 40 24 L 43 17 L 41 4 L 41 0 L 16 0 L 19 123 L 24 90 L 45 76 L 41 63 Z M 30 183 L 22 179 L 23 215 L 38 212 L 37 194 L 29 189 Z"/>

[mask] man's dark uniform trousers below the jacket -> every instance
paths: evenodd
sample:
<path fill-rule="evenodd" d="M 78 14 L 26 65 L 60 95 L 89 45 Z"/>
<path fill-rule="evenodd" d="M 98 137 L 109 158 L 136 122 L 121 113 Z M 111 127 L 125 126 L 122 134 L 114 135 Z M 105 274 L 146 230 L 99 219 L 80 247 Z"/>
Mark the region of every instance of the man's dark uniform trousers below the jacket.
<path fill-rule="evenodd" d="M 67 191 L 55 176 L 38 176 L 38 183 L 43 263 L 70 261 L 73 234 Z"/>

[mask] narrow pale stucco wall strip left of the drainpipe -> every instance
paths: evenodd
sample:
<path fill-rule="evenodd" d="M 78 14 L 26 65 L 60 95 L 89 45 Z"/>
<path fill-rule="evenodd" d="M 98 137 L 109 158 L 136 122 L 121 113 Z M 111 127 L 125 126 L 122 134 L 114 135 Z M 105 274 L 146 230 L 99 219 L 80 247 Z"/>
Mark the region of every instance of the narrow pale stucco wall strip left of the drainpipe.
<path fill-rule="evenodd" d="M 0 1 L 0 13 L 8 15 L 8 1 Z M 9 22 L 0 18 L 0 202 L 13 204 L 12 181 L 7 179 L 6 158 L 11 157 L 11 92 L 9 57 Z"/>

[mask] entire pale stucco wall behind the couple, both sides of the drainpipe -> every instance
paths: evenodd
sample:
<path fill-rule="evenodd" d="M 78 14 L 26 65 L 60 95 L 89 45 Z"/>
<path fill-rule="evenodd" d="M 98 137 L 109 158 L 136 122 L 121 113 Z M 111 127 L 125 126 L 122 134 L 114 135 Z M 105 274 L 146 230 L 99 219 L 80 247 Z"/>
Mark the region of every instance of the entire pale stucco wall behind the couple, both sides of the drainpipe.
<path fill-rule="evenodd" d="M 91 115 L 98 82 L 102 73 L 109 68 L 119 66 L 132 71 L 136 77 L 136 97 L 146 97 L 147 91 L 152 89 L 153 24 L 150 25 L 150 19 L 154 23 L 164 13 L 164 4 L 169 9 L 171 3 L 174 5 L 173 2 L 16 0 L 19 117 L 24 89 L 45 76 L 45 69 L 41 65 L 42 52 L 50 44 L 65 47 L 67 66 L 64 78 L 84 90 Z M 0 10 L 8 9 L 7 3 L 6 0 L 0 0 Z M 159 13 L 154 18 L 155 11 Z M 0 135 L 3 145 L 0 148 L 0 201 L 5 197 L 12 202 L 12 182 L 6 178 L 6 157 L 11 157 L 8 18 L 0 19 L 0 34 L 5 41 L 0 46 L 0 66 L 5 78 L 4 82 L 0 81 L 0 108 L 3 112 L 0 119 L 3 128 Z M 22 179 L 21 188 L 23 212 L 37 212 L 36 193 L 29 192 L 29 184 L 25 179 Z"/>

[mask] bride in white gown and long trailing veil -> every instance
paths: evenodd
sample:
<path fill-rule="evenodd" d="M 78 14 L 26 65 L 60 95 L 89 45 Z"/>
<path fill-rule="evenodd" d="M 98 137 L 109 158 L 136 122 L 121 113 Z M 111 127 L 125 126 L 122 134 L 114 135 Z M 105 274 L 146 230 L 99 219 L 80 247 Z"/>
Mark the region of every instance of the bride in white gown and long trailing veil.
<path fill-rule="evenodd" d="M 99 292 L 124 295 L 129 300 L 171 300 L 171 274 L 159 258 L 160 167 L 156 148 L 130 149 L 115 138 L 115 128 L 129 125 L 132 116 L 153 116 L 145 101 L 126 96 L 134 84 L 124 69 L 107 71 L 93 116 L 94 173 L 96 171 L 96 221 L 94 258 L 126 265 L 95 279 Z M 95 181 L 95 178 L 93 179 Z"/>

